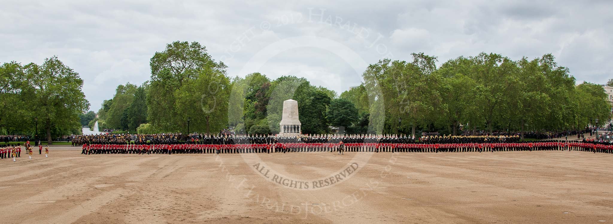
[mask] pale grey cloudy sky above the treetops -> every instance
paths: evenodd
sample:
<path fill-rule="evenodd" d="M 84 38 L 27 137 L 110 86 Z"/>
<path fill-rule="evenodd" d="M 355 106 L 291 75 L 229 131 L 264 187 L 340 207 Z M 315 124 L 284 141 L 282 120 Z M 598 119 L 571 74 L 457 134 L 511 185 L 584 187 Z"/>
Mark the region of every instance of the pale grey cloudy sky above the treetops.
<path fill-rule="evenodd" d="M 150 77 L 149 59 L 197 41 L 230 77 L 305 77 L 338 93 L 368 64 L 441 62 L 480 52 L 552 53 L 577 81 L 613 78 L 613 2 L 602 1 L 2 1 L 0 62 L 57 55 L 97 111 L 118 84 Z"/>

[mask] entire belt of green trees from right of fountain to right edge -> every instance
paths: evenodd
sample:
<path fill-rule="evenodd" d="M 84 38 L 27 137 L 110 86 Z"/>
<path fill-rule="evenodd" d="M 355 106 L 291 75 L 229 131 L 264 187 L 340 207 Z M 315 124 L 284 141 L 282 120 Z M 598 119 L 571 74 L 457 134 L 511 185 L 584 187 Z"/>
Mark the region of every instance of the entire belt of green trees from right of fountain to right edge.
<path fill-rule="evenodd" d="M 151 79 L 120 85 L 98 111 L 102 129 L 139 133 L 278 133 L 283 101 L 299 102 L 303 133 L 487 132 L 582 130 L 608 120 L 598 84 L 575 84 L 551 54 L 513 61 L 500 54 L 383 59 L 360 86 L 337 95 L 305 78 L 261 73 L 229 78 L 197 42 L 173 42 L 150 60 Z M 94 120 L 95 121 L 95 120 Z M 93 121 L 93 122 L 94 122 Z"/>

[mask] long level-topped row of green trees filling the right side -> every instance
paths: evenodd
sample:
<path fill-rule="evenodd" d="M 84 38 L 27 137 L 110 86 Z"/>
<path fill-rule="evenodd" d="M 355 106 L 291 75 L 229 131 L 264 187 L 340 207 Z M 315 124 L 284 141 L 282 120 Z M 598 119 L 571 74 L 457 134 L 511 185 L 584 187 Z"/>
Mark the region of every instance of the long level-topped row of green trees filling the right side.
<path fill-rule="evenodd" d="M 348 94 L 357 105 L 373 102 L 368 111 L 385 115 L 371 119 L 370 126 L 388 133 L 456 134 L 460 127 L 490 133 L 583 130 L 611 116 L 602 86 L 576 85 L 551 54 L 513 61 L 481 53 L 440 67 L 435 63 L 435 57 L 423 53 L 408 62 L 381 60 Z"/>

